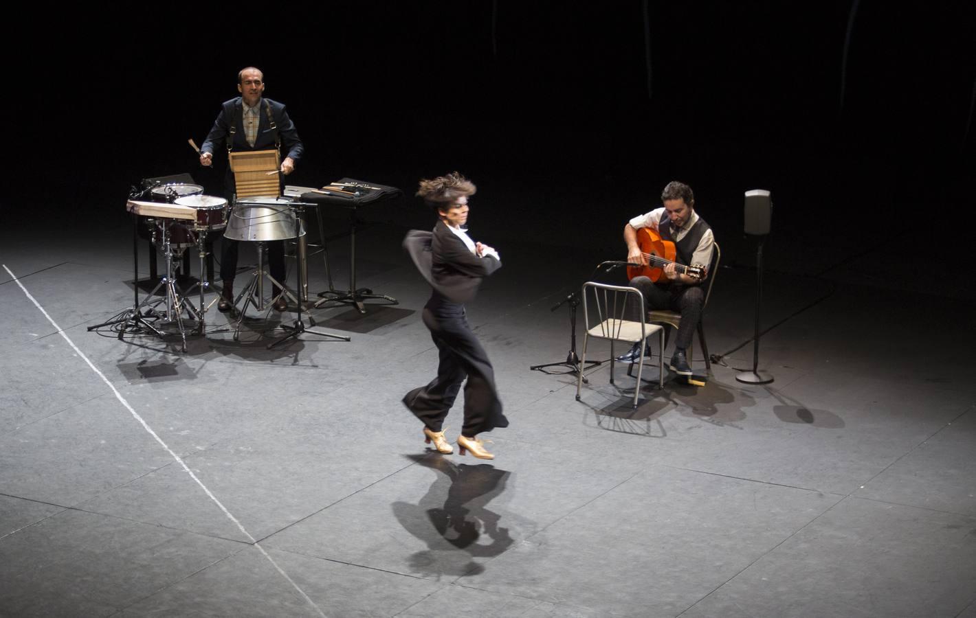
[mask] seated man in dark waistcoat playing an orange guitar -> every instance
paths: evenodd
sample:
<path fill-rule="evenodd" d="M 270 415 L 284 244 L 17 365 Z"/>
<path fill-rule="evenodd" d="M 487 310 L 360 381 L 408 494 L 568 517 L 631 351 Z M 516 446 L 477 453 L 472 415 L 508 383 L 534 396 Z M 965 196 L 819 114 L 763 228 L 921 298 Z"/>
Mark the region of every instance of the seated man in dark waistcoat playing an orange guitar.
<path fill-rule="evenodd" d="M 671 181 L 661 193 L 664 208 L 655 209 L 630 219 L 624 226 L 624 241 L 627 243 L 627 261 L 639 263 L 647 268 L 647 275 L 632 276 L 630 286 L 640 290 L 644 296 L 645 309 L 671 309 L 681 314 L 681 323 L 674 339 L 674 354 L 671 356 L 671 370 L 678 375 L 691 375 L 686 350 L 691 345 L 691 337 L 698 328 L 705 304 L 705 291 L 701 284 L 708 277 L 707 268 L 712 263 L 712 228 L 698 212 L 695 212 L 695 195 L 687 184 Z M 674 244 L 675 256 L 660 270 L 650 273 L 656 264 L 648 264 L 648 254 L 641 251 L 639 243 L 641 228 L 652 228 L 661 240 Z M 646 232 L 644 233 L 646 235 Z M 660 260 L 653 260 L 660 265 Z M 701 270 L 682 269 L 674 262 L 686 266 L 701 266 Z M 635 269 L 630 269 L 632 273 Z M 699 276 L 679 272 L 688 270 Z M 655 283 L 654 280 L 657 283 Z M 650 355 L 650 349 L 645 356 Z M 634 344 L 630 352 L 617 360 L 633 363 L 640 357 L 640 344 Z M 664 362 L 664 359 L 662 359 Z"/>

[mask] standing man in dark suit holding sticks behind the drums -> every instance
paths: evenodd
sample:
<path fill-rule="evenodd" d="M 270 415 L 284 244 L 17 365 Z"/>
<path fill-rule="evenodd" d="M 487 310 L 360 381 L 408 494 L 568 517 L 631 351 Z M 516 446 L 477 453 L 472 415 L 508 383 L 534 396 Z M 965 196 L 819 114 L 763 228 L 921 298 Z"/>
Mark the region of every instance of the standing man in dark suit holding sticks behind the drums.
<path fill-rule="evenodd" d="M 207 135 L 207 140 L 200 148 L 200 165 L 211 166 L 214 160 L 214 149 L 226 144 L 227 153 L 231 151 L 268 150 L 276 148 L 280 154 L 281 145 L 288 149 L 288 155 L 281 162 L 280 186 L 284 186 L 281 176 L 291 174 L 295 164 L 302 158 L 305 147 L 302 138 L 295 130 L 295 124 L 288 117 L 282 103 L 262 97 L 264 93 L 264 73 L 249 66 L 237 74 L 237 90 L 240 97 L 224 101 L 221 113 L 214 121 L 214 128 Z M 234 174 L 230 171 L 228 162 L 224 175 L 224 194 L 232 203 L 236 189 Z M 280 190 L 279 190 L 280 193 Z M 237 271 L 237 241 L 224 238 L 221 252 L 221 279 L 224 289 L 221 291 L 221 301 L 217 308 L 229 311 L 233 307 L 234 274 Z M 285 281 L 285 244 L 284 241 L 267 243 L 267 261 L 271 277 L 279 282 Z M 288 308 L 284 294 L 277 286 L 273 289 L 277 298 L 274 308 L 284 311 Z"/>

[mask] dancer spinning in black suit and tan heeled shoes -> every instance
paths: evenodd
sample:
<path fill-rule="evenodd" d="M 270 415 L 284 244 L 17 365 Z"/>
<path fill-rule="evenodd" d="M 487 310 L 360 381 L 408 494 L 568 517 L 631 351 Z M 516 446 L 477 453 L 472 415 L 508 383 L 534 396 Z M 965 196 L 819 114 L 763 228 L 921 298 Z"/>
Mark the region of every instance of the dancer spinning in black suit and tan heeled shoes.
<path fill-rule="evenodd" d="M 442 426 L 467 377 L 465 422 L 458 448 L 462 455 L 469 451 L 479 459 L 494 459 L 477 436 L 508 427 L 508 419 L 495 390 L 495 370 L 468 326 L 465 303 L 474 297 L 484 277 L 502 267 L 502 260 L 498 251 L 475 243 L 465 231 L 468 198 L 475 191 L 474 183 L 457 172 L 421 180 L 417 191 L 438 220 L 432 232 L 411 230 L 403 247 L 433 289 L 423 319 L 440 363 L 437 377 L 407 393 L 403 405 L 424 423 L 427 444 L 433 443 L 438 452 L 452 453 L 454 448 Z"/>

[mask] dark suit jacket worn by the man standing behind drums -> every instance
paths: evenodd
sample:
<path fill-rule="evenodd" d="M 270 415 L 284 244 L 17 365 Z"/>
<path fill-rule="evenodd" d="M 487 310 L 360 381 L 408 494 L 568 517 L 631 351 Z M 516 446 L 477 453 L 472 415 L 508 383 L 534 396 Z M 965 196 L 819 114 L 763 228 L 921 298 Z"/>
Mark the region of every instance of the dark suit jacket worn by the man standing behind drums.
<path fill-rule="evenodd" d="M 271 106 L 271 117 L 274 118 L 276 132 L 271 130 L 271 125 L 267 121 L 264 101 L 267 101 Z M 222 103 L 221 113 L 214 121 L 214 128 L 210 130 L 207 139 L 200 146 L 200 152 L 215 154 L 215 149 L 224 147 L 225 140 L 230 135 L 230 123 L 236 120 L 236 133 L 231 144 L 231 149 L 234 152 L 272 149 L 274 148 L 274 135 L 277 133 L 281 135 L 282 161 L 285 157 L 291 157 L 293 161 L 298 163 L 305 153 L 305 145 L 302 143 L 302 138 L 299 137 L 299 132 L 295 129 L 295 123 L 288 116 L 285 105 L 267 97 L 262 97 L 259 104 L 258 115 L 261 120 L 258 123 L 258 136 L 253 146 L 247 142 L 247 136 L 244 133 L 244 109 L 241 105 L 241 97 L 234 97 Z M 230 171 L 229 163 L 224 176 L 224 190 L 228 195 L 232 195 L 234 192 L 234 174 Z"/>

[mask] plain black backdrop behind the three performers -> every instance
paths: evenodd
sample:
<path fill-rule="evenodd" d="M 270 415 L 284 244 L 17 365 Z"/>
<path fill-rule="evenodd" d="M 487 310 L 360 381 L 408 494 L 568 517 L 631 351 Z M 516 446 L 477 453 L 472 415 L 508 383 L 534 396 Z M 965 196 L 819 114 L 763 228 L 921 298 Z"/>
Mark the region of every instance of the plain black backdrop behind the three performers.
<path fill-rule="evenodd" d="M 180 172 L 219 194 L 221 174 L 200 170 L 186 138 L 203 141 L 254 64 L 305 140 L 295 182 L 349 175 L 409 194 L 419 177 L 461 170 L 503 236 L 571 220 L 582 231 L 547 242 L 618 243 L 672 178 L 726 234 L 750 188 L 774 191 L 780 225 L 890 220 L 971 202 L 966 5 L 28 8 L 3 44 L 5 167 L 18 180 L 3 206 L 9 224 L 32 210 L 15 204 L 71 224 L 114 217 L 130 184 Z M 371 216 L 426 224 L 413 209 Z"/>

